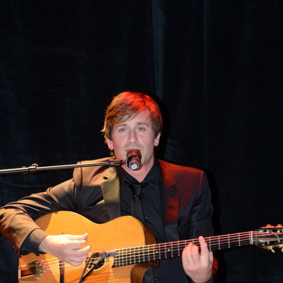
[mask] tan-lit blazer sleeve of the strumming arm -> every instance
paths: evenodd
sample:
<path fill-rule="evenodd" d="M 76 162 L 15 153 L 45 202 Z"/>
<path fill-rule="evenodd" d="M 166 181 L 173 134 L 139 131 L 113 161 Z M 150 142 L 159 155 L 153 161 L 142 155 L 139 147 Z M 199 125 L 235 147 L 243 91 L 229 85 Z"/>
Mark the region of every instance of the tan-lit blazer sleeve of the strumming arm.
<path fill-rule="evenodd" d="M 39 245 L 47 235 L 35 222 L 40 216 L 60 211 L 74 211 L 76 208 L 76 189 L 73 180 L 63 182 L 48 188 L 45 192 L 32 194 L 17 202 L 10 202 L 0 208 L 0 232 L 9 241 L 14 251 L 20 256 L 20 248 L 29 236 L 29 241 Z M 32 232 L 33 235 L 31 235 Z M 39 254 L 34 245 L 26 243 L 31 250 L 23 254 L 34 252 Z"/>

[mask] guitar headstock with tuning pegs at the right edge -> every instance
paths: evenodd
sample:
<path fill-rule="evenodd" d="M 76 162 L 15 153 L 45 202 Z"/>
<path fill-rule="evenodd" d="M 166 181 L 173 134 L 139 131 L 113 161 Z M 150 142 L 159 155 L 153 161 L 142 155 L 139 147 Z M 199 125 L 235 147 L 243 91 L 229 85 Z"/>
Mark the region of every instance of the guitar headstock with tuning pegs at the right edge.
<path fill-rule="evenodd" d="M 267 224 L 257 230 L 254 234 L 255 244 L 260 248 L 267 249 L 275 253 L 274 248 L 279 248 L 283 252 L 283 225 L 276 226 Z"/>

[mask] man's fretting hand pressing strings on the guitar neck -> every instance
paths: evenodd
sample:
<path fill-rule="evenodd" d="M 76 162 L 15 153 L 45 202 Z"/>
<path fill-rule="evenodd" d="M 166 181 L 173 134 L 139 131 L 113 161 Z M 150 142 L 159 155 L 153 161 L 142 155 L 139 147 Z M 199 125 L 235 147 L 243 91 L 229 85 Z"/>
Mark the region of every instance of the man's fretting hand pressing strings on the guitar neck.
<path fill-rule="evenodd" d="M 207 248 L 205 240 L 199 237 L 201 252 L 197 245 L 189 243 L 182 252 L 182 264 L 185 273 L 195 282 L 208 282 L 212 275 L 213 254 Z"/>

